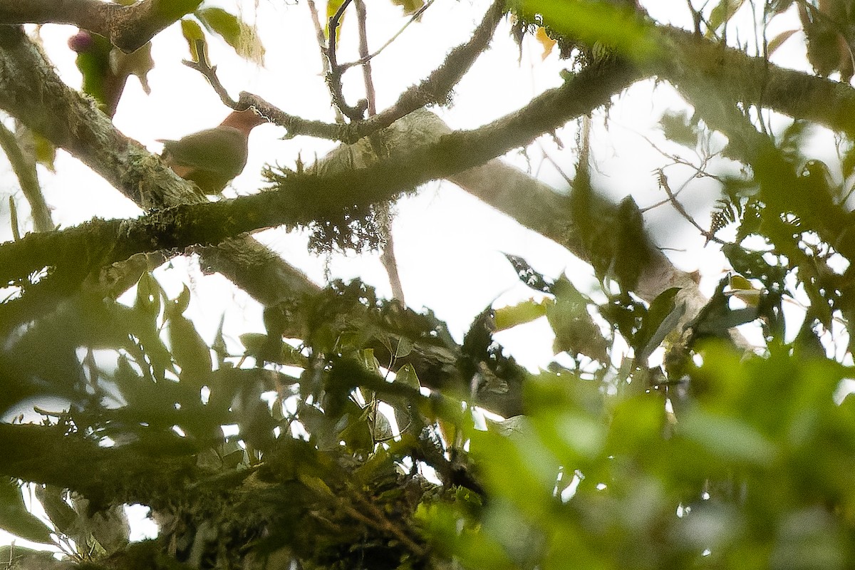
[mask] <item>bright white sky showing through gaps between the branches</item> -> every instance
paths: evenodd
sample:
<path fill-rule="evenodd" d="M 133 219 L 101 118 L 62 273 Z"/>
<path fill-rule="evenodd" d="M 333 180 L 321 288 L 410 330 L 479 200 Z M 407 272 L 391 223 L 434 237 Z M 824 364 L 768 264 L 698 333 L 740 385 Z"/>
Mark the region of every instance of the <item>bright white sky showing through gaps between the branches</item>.
<path fill-rule="evenodd" d="M 317 3 L 319 9 L 323 9 L 323 0 Z M 397 32 L 405 19 L 391 0 L 368 4 L 369 43 L 374 50 Z M 653 5 L 651 13 L 659 21 L 682 25 L 688 19 L 684 0 L 657 0 L 646 4 Z M 210 40 L 210 58 L 233 96 L 239 91 L 252 91 L 293 115 L 333 120 L 321 77 L 315 30 L 304 0 L 292 3 L 232 0 L 205 5 L 241 10 L 247 21 L 257 22 L 267 49 L 265 66 L 259 68 L 239 59 L 219 39 Z M 436 0 L 421 22 L 410 26 L 374 60 L 378 109 L 385 108 L 401 91 L 427 76 L 442 62 L 448 50 L 469 38 L 488 5 L 486 0 Z M 345 18 L 339 61 L 357 58 L 354 16 L 355 13 L 351 13 Z M 794 27 L 795 20 L 794 16 L 781 18 L 776 29 Z M 481 126 L 519 109 L 545 89 L 560 85 L 558 71 L 568 67 L 568 63 L 559 61 L 556 53 L 541 61 L 540 44 L 527 38 L 522 62 L 518 64 L 519 52 L 509 29 L 507 21 L 499 25 L 491 49 L 457 86 L 454 104 L 450 108 L 434 109 L 453 128 Z M 44 26 L 41 30 L 56 68 L 69 85 L 77 87 L 80 73 L 74 65 L 75 54 L 66 45 L 74 32 L 76 30 L 70 26 Z M 750 43 L 753 44 L 753 38 Z M 160 152 L 162 145 L 156 139 L 180 138 L 215 126 L 227 115 L 228 109 L 199 73 L 181 65 L 181 60 L 189 54 L 179 26 L 158 34 L 152 45 L 156 67 L 149 74 L 151 94 L 144 94 L 136 78 L 129 79 L 115 124 L 152 152 Z M 792 67 L 806 68 L 799 34 L 777 54 L 775 62 L 782 61 Z M 362 77 L 357 68 L 345 75 L 345 87 L 351 103 L 362 96 Z M 668 152 L 679 152 L 691 158 L 691 151 L 665 143 L 657 130 L 657 120 L 666 109 L 681 107 L 681 100 L 668 85 L 654 88 L 652 82 L 644 82 L 616 100 L 608 114 L 608 131 L 603 128 L 603 111 L 597 112 L 594 116 L 594 160 L 599 182 L 607 191 L 618 198 L 631 192 L 642 208 L 664 198 L 652 170 L 669 161 L 650 149 L 640 135 L 652 138 Z M 572 174 L 576 160 L 575 128 L 575 124 L 570 124 L 558 133 L 563 138 L 564 150 L 559 150 L 551 138 L 544 137 L 528 153 L 532 171 L 557 189 L 563 189 L 566 184 L 555 169 L 541 159 L 540 149 L 555 159 L 565 172 Z M 305 137 L 284 141 L 280 140 L 281 136 L 280 129 L 271 125 L 260 126 L 252 133 L 250 161 L 244 174 L 234 181 L 231 195 L 256 191 L 265 163 L 279 162 L 292 167 L 298 152 L 302 152 L 304 160 L 310 161 L 315 153 L 322 156 L 333 146 L 328 141 Z M 817 152 L 822 157 L 833 156 L 830 138 L 826 136 L 823 141 L 822 146 L 817 146 Z M 817 144 L 819 142 L 817 139 Z M 722 141 L 718 140 L 718 144 Z M 522 168 L 527 167 L 519 153 L 512 152 L 506 159 Z M 2 169 L 6 183 L 3 194 L 13 193 L 23 216 L 27 206 L 17 190 L 11 169 L 8 165 L 0 166 Z M 676 168 L 669 170 L 672 188 L 681 185 L 685 172 Z M 114 218 L 140 214 L 133 203 L 65 153 L 61 152 L 57 159 L 56 174 L 41 170 L 40 177 L 47 201 L 54 209 L 54 220 L 61 226 L 74 226 L 93 216 Z M 705 226 L 716 197 L 715 185 L 696 181 L 681 194 L 681 201 Z M 4 197 L 0 203 L 0 241 L 11 236 L 6 202 Z M 523 256 L 533 267 L 553 277 L 569 270 L 570 278 L 582 291 L 589 291 L 593 285 L 587 265 L 451 183 L 428 184 L 416 196 L 399 203 L 397 209 L 393 235 L 407 302 L 414 309 L 433 309 L 439 318 L 448 322 L 458 340 L 486 305 L 513 304 L 533 295 L 516 279 L 502 252 Z M 704 238 L 667 205 L 646 214 L 646 220 L 660 244 L 677 250 L 669 251 L 669 256 L 679 267 L 687 271 L 701 270 L 702 286 L 711 292 L 728 269 L 727 261 L 717 253 L 717 246 L 711 244 L 703 250 Z M 26 227 L 27 223 L 22 226 Z M 301 267 L 315 282 L 323 283 L 324 260 L 306 251 L 303 233 L 277 229 L 264 232 L 259 238 L 286 261 Z M 178 294 L 182 284 L 189 285 L 196 293 L 190 314 L 207 340 L 213 338 L 221 311 L 226 311 L 230 336 L 227 341 L 233 342 L 230 346 L 233 351 L 241 351 L 237 341 L 240 333 L 262 332 L 261 309 L 243 292 L 229 286 L 219 276 L 203 276 L 194 261 L 175 259 L 172 266 L 158 270 L 156 276 L 172 296 Z M 380 294 L 391 296 L 386 274 L 376 255 L 336 256 L 331 260 L 330 269 L 333 278 L 360 277 L 376 286 Z M 551 361 L 551 332 L 545 320 L 518 329 L 500 333 L 497 338 L 527 367 L 545 366 Z"/>

